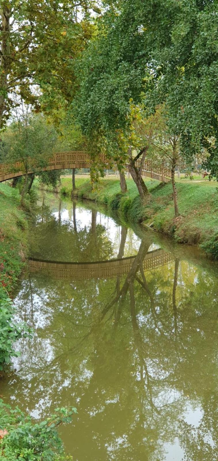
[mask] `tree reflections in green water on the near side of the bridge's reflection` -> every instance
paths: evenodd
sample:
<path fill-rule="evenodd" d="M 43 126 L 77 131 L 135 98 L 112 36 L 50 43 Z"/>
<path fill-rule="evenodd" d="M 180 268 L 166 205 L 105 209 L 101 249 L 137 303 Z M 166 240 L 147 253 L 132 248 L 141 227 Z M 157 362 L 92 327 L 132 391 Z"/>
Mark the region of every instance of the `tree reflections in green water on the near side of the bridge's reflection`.
<path fill-rule="evenodd" d="M 125 239 L 122 230 L 120 257 Z M 216 279 L 178 259 L 144 273 L 149 246 L 141 242 L 125 277 L 29 276 L 19 294 L 37 336 L 34 348 L 21 344 L 10 388 L 39 415 L 77 406 L 66 437 L 75 459 L 162 460 L 175 436 L 185 460 L 216 459 Z M 198 427 L 187 407 L 200 408 Z"/>

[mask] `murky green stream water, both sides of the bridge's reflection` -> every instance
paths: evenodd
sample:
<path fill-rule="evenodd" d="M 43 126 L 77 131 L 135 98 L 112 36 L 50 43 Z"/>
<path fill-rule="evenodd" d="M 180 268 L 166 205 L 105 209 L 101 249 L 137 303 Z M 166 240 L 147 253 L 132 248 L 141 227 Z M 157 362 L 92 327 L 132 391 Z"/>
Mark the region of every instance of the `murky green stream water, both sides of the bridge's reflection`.
<path fill-rule="evenodd" d="M 217 264 L 88 202 L 38 205 L 32 257 L 84 264 L 27 268 L 15 302 L 35 336 L 0 394 L 35 419 L 75 406 L 74 461 L 217 460 Z"/>

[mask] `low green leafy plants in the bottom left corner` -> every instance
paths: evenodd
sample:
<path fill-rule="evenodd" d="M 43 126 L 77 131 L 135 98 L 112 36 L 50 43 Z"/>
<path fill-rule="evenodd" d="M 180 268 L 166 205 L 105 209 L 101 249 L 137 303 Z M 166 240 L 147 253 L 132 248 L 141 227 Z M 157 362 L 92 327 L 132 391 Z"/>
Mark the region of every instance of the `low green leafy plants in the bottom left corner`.
<path fill-rule="evenodd" d="M 33 424 L 18 407 L 14 410 L 0 400 L 0 430 L 8 433 L 0 443 L 2 460 L 61 461 L 71 460 L 64 454 L 57 428 L 71 422 L 76 408 L 56 408 L 55 413 L 40 423 Z"/>

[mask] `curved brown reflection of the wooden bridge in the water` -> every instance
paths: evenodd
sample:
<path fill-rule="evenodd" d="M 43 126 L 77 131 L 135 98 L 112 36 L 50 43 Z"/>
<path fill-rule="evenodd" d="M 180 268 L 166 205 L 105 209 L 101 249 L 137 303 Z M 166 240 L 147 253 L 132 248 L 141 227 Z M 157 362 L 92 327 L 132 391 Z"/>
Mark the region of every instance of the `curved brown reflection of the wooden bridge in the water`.
<path fill-rule="evenodd" d="M 96 262 L 59 262 L 38 259 L 29 260 L 30 272 L 46 271 L 52 278 L 58 280 L 87 280 L 92 278 L 113 278 L 127 274 L 136 256 L 123 259 Z M 159 248 L 149 251 L 143 260 L 143 270 L 149 271 L 156 267 L 165 266 L 173 261 L 172 254 Z"/>

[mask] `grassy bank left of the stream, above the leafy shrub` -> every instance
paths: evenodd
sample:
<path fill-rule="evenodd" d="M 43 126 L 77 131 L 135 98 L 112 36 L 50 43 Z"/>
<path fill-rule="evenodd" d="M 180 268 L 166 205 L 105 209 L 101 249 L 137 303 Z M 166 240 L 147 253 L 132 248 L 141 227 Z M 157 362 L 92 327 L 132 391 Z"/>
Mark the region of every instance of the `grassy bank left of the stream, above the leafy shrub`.
<path fill-rule="evenodd" d="M 27 219 L 18 189 L 0 184 L 0 298 L 16 285 L 27 254 Z"/>

